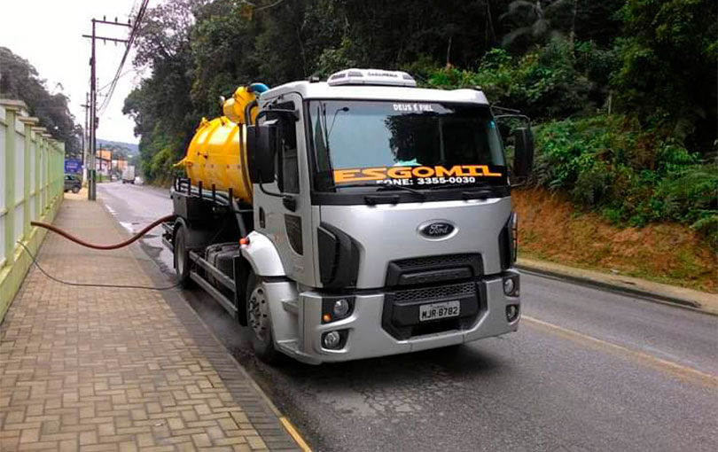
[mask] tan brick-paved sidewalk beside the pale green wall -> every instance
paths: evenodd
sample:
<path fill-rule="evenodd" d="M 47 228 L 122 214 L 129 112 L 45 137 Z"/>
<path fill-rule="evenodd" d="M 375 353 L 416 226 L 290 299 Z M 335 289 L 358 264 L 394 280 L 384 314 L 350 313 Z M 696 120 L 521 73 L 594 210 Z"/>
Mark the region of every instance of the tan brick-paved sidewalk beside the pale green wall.
<path fill-rule="evenodd" d="M 90 242 L 123 238 L 82 197 L 66 196 L 55 224 Z M 129 248 L 48 234 L 39 254 L 64 280 L 168 284 Z M 278 416 L 171 291 L 71 287 L 33 268 L 0 325 L 2 452 L 300 450 Z"/>

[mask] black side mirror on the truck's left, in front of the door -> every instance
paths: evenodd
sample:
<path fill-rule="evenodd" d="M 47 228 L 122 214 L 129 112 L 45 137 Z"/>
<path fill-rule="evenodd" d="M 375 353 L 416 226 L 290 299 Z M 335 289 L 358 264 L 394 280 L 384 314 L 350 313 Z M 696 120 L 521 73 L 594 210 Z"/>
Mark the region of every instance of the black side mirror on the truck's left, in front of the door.
<path fill-rule="evenodd" d="M 246 128 L 247 166 L 253 183 L 274 182 L 277 121 Z"/>

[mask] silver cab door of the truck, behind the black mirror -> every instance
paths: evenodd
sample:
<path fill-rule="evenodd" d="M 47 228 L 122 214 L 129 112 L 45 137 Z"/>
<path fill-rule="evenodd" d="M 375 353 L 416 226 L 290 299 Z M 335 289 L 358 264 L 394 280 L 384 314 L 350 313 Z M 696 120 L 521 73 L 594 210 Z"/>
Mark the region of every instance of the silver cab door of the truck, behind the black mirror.
<path fill-rule="evenodd" d="M 288 117 L 264 116 L 262 121 L 277 119 L 278 150 L 275 180 L 263 184 L 267 193 L 254 185 L 254 229 L 265 234 L 277 246 L 288 277 L 301 284 L 314 285 L 314 260 L 311 244 L 311 203 L 307 171 L 303 114 L 300 97 L 285 95 L 273 108 L 292 109 L 299 121 Z M 281 196 L 277 196 L 281 195 Z"/>

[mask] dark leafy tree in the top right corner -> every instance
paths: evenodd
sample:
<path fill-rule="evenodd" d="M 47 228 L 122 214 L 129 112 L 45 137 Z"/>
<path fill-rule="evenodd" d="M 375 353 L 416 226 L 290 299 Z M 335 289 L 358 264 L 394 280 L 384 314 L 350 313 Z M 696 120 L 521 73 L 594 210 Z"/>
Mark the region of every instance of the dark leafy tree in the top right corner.
<path fill-rule="evenodd" d="M 620 108 L 688 140 L 702 152 L 716 139 L 718 14 L 713 0 L 628 0 L 620 10 Z"/>

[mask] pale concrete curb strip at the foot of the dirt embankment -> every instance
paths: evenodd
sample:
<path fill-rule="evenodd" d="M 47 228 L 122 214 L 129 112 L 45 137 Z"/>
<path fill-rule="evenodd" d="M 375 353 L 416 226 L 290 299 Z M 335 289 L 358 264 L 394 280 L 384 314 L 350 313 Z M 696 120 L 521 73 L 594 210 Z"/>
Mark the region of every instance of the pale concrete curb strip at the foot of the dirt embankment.
<path fill-rule="evenodd" d="M 594 270 L 519 258 L 517 267 L 529 273 L 587 284 L 614 292 L 628 293 L 645 300 L 668 303 L 718 316 L 718 294 L 699 292 L 675 285 L 654 283 L 637 277 L 609 275 Z"/>

